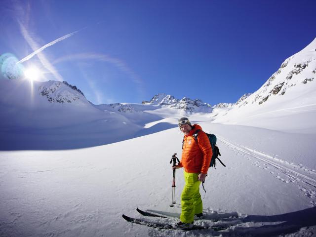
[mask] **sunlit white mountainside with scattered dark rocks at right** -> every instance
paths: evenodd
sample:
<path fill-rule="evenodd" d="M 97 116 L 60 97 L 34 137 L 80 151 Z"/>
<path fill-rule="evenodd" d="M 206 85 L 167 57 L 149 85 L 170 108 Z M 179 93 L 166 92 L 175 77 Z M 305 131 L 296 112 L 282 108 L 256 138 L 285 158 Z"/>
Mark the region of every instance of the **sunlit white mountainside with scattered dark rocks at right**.
<path fill-rule="evenodd" d="M 315 78 L 316 39 L 286 59 L 256 92 L 230 110 L 214 111 L 215 122 L 315 133 Z"/>

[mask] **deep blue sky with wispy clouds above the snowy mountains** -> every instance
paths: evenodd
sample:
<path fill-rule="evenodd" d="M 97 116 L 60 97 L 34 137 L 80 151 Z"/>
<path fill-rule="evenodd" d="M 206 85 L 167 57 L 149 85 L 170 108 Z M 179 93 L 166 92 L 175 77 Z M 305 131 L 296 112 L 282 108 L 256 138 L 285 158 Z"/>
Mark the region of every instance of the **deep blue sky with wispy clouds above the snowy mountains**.
<path fill-rule="evenodd" d="M 315 0 L 4 0 L 0 54 L 95 104 L 254 92 L 316 37 Z"/>

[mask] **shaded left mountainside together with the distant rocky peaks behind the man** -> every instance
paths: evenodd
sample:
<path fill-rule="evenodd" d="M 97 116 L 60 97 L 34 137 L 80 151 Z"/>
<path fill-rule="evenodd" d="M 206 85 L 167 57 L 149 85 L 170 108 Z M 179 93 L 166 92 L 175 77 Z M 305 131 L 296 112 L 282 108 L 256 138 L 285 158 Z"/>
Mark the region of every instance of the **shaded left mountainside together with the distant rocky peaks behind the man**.
<path fill-rule="evenodd" d="M 200 100 L 158 94 L 150 103 L 93 105 L 66 81 L 0 80 L 0 149 L 71 149 L 104 145 L 175 127 L 207 113 Z"/>

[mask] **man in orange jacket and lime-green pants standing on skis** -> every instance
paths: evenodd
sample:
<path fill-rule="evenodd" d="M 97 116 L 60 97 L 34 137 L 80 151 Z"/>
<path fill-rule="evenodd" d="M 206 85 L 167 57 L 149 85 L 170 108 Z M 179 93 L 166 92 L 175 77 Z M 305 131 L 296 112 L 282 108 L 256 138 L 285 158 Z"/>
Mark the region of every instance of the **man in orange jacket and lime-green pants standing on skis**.
<path fill-rule="evenodd" d="M 188 118 L 180 118 L 178 126 L 184 133 L 182 157 L 179 165 L 175 165 L 173 168 L 184 168 L 185 186 L 181 194 L 180 222 L 176 223 L 174 227 L 191 229 L 194 215 L 199 218 L 203 216 L 199 185 L 204 182 L 207 175 L 212 158 L 212 147 L 203 131 L 198 131 L 197 142 L 195 141 L 193 136 L 197 135 L 197 129 L 202 130 L 202 128 L 197 124 L 192 126 Z"/>

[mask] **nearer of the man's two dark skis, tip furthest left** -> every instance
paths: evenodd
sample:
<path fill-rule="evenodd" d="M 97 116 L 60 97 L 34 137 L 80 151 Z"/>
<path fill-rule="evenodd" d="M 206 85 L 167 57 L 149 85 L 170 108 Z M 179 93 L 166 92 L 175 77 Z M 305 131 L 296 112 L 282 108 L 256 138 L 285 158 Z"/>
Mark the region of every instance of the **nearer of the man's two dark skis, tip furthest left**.
<path fill-rule="evenodd" d="M 148 221 L 148 220 L 144 220 L 144 219 L 137 219 L 137 218 L 126 216 L 124 214 L 122 215 L 122 217 L 128 222 L 139 224 L 139 225 L 144 225 L 147 227 L 163 229 L 163 230 L 178 230 L 177 228 L 173 227 L 170 224 L 163 224 L 163 223 Z M 210 227 L 194 225 L 193 228 L 191 228 L 190 230 L 212 229 L 214 231 L 222 231 L 222 230 L 226 230 L 230 226 L 231 226 L 231 224 L 223 224 L 223 225 L 216 225 L 216 226 L 210 226 Z M 189 230 L 189 229 L 183 229 L 183 230 Z"/>

